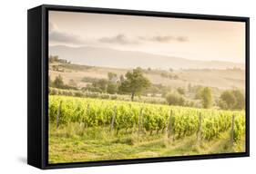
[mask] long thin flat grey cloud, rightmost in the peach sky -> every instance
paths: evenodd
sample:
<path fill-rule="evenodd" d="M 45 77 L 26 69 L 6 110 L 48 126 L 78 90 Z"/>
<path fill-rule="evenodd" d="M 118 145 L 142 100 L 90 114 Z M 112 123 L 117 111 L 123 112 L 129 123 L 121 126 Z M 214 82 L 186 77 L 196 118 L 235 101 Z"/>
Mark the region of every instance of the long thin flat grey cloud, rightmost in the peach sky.
<path fill-rule="evenodd" d="M 172 35 L 156 35 L 156 36 L 138 36 L 138 39 L 142 41 L 150 41 L 157 43 L 169 43 L 171 41 L 188 42 L 189 39 L 186 36 L 172 36 Z"/>

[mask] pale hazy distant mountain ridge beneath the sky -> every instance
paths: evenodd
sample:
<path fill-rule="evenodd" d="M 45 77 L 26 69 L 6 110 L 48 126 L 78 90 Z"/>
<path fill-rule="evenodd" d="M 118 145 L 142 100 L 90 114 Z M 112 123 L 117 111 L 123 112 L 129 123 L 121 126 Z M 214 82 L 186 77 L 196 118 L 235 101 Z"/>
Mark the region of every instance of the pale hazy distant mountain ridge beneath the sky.
<path fill-rule="evenodd" d="M 221 61 L 196 61 L 179 57 L 153 53 L 120 51 L 102 47 L 69 47 L 64 45 L 50 46 L 49 53 L 58 55 L 71 63 L 87 64 L 112 68 L 142 67 L 151 69 L 226 69 L 238 67 L 244 69 L 243 63 Z"/>

